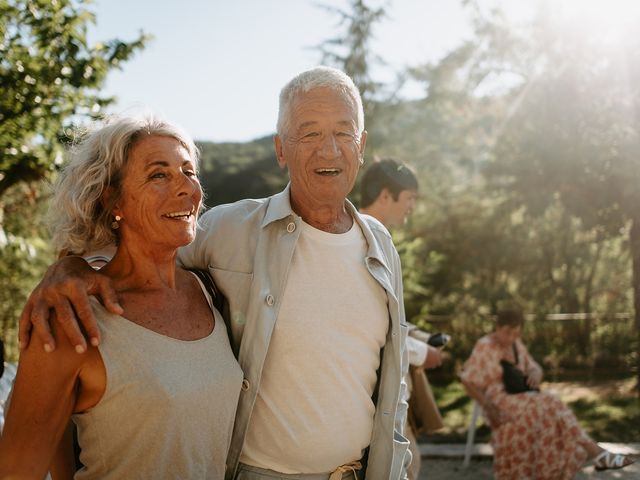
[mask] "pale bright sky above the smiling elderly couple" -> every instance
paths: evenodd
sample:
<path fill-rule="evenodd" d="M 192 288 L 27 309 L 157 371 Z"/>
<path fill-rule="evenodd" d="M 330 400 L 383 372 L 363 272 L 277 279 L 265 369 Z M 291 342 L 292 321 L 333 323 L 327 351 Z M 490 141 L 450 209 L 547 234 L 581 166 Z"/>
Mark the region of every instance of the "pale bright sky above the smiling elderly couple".
<path fill-rule="evenodd" d="M 519 0 L 520 1 L 520 0 Z M 195 139 L 248 141 L 275 130 L 278 94 L 295 74 L 318 65 L 314 50 L 340 36 L 348 0 L 95 0 L 91 42 L 133 40 L 148 46 L 107 78 L 110 112 L 150 108 Z M 369 2 L 370 4 L 374 4 Z M 393 0 L 375 30 L 373 48 L 390 81 L 409 65 L 437 61 L 470 35 L 459 0 Z"/>

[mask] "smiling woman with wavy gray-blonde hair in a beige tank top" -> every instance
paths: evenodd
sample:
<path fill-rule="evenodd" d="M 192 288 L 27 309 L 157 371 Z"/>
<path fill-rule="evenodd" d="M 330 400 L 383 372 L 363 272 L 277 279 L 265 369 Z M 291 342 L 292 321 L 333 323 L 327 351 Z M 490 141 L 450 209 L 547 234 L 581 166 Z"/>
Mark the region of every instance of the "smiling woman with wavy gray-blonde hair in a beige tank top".
<path fill-rule="evenodd" d="M 224 476 L 242 372 L 207 289 L 176 267 L 197 228 L 197 160 L 192 140 L 152 115 L 113 119 L 73 152 L 51 202 L 54 243 L 82 253 L 115 242 L 101 272 L 123 312 L 92 297 L 99 347 L 79 355 L 57 335 L 47 354 L 34 336 L 22 352 L 0 477 L 43 478 L 70 418 L 75 478 Z"/>

